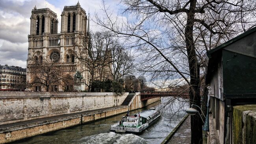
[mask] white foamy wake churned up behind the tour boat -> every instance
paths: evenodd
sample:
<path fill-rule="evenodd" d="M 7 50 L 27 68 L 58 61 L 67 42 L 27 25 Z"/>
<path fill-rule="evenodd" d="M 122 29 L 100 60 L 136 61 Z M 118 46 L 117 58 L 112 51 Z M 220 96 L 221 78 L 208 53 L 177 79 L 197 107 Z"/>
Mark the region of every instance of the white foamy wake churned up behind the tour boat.
<path fill-rule="evenodd" d="M 83 137 L 79 142 L 81 144 L 147 144 L 143 138 L 137 135 L 114 132 Z"/>

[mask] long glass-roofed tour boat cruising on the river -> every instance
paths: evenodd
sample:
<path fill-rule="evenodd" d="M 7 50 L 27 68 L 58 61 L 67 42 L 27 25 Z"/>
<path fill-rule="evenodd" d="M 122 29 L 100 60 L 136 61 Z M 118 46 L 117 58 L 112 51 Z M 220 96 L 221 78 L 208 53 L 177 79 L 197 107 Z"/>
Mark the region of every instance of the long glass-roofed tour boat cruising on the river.
<path fill-rule="evenodd" d="M 134 115 L 126 114 L 120 122 L 111 125 L 110 131 L 116 133 L 140 133 L 160 117 L 160 111 L 154 109 L 144 110 Z"/>

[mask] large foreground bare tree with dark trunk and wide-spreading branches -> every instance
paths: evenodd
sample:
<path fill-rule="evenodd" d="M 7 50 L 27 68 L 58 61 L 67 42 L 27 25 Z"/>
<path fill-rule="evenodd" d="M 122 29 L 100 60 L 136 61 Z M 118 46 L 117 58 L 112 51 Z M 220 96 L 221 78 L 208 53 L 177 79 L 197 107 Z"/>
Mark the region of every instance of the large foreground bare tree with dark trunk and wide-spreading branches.
<path fill-rule="evenodd" d="M 189 86 L 190 104 L 200 104 L 200 75 L 204 53 L 255 26 L 254 0 L 121 0 L 124 14 L 113 17 L 103 1 L 104 18 L 96 23 L 127 38 L 145 58 L 143 69 L 152 78 L 183 79 Z M 120 26 L 121 25 L 121 26 Z M 197 109 L 200 111 L 199 109 Z M 191 116 L 191 144 L 202 144 L 202 121 Z"/>

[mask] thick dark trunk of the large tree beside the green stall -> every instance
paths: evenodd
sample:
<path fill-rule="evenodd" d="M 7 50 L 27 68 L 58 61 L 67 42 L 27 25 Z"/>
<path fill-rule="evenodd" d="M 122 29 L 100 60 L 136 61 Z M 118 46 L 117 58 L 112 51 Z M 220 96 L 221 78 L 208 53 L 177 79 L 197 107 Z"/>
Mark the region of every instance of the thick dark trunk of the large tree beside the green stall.
<path fill-rule="evenodd" d="M 200 104 L 200 69 L 195 51 L 193 39 L 193 26 L 195 17 L 195 7 L 197 0 L 191 0 L 189 12 L 187 13 L 187 24 L 185 28 L 186 48 L 189 62 L 190 83 L 189 98 L 190 105 L 195 104 L 201 107 Z M 200 113 L 200 109 L 196 107 Z M 191 116 L 191 144 L 202 144 L 202 120 L 198 114 Z"/>

